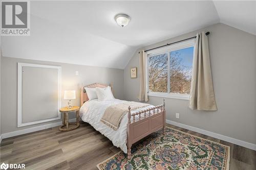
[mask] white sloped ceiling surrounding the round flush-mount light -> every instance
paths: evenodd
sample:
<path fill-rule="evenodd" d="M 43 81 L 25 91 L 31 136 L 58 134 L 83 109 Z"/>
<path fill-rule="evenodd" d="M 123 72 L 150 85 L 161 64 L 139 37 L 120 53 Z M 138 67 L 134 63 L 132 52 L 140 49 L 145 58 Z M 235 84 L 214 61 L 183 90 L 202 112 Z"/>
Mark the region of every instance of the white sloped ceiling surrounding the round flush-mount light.
<path fill-rule="evenodd" d="M 123 69 L 139 47 L 218 22 L 256 35 L 255 2 L 31 1 L 30 10 L 31 35 L 1 37 L 3 56 Z"/>

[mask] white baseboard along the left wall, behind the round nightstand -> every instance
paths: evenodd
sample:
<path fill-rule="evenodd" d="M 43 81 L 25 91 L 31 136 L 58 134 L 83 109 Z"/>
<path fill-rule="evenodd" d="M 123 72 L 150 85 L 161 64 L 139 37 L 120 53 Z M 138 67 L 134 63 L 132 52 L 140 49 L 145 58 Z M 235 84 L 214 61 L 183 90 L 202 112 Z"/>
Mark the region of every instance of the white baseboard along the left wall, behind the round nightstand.
<path fill-rule="evenodd" d="M 76 118 L 69 119 L 69 122 L 75 122 L 75 121 L 76 121 Z M 62 125 L 62 122 L 56 122 L 56 123 L 52 123 L 52 124 L 36 126 L 36 127 L 28 128 L 28 129 L 14 131 L 14 132 L 3 133 L 1 135 L 1 140 L 2 140 L 2 137 L 3 137 L 3 139 L 5 139 L 5 138 L 8 138 L 8 137 L 13 137 L 13 136 L 18 136 L 18 135 L 26 134 L 26 133 L 40 131 L 40 130 L 44 130 L 44 129 L 48 129 L 48 128 L 53 128 L 53 127 L 60 126 L 60 125 Z"/>

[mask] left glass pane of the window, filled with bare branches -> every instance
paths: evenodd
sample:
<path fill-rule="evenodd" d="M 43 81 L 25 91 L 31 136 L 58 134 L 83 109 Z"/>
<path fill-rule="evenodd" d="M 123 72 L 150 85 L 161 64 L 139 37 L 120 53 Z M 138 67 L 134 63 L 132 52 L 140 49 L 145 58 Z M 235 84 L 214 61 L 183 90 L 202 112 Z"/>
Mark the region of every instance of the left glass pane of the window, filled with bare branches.
<path fill-rule="evenodd" d="M 148 57 L 148 89 L 167 92 L 167 54 Z"/>

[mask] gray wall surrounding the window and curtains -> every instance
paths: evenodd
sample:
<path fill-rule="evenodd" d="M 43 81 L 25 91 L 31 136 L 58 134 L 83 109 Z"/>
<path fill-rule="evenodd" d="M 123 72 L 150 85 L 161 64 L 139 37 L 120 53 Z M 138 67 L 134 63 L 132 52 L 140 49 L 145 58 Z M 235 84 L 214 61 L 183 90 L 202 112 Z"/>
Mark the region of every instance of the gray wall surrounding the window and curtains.
<path fill-rule="evenodd" d="M 256 36 L 221 23 L 190 32 L 152 47 L 193 37 L 199 31 L 209 31 L 209 51 L 212 79 L 218 111 L 196 111 L 188 108 L 188 101 L 166 99 L 168 120 L 215 132 L 256 144 Z M 139 72 L 131 79 L 130 69 L 139 67 L 138 51 L 124 69 L 125 100 L 137 100 Z M 149 103 L 158 105 L 161 98 L 150 96 Z M 180 113 L 180 119 L 175 118 Z"/>

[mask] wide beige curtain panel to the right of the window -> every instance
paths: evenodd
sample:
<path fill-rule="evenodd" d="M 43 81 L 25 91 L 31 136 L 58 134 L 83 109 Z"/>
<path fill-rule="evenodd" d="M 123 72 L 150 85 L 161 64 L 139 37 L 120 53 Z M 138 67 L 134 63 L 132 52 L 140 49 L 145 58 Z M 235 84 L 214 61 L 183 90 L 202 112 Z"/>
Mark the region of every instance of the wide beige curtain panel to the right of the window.
<path fill-rule="evenodd" d="M 205 32 L 196 37 L 189 108 L 193 110 L 217 110 L 212 85 L 208 37 Z"/>

